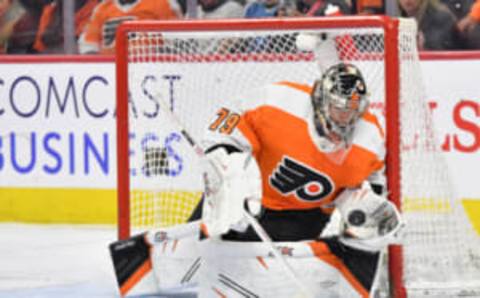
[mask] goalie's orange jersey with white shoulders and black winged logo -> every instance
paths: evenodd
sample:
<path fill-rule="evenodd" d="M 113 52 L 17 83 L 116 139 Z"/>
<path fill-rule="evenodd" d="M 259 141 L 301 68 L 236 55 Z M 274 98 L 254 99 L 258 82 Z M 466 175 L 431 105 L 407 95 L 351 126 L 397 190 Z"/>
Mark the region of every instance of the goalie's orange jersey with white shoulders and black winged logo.
<path fill-rule="evenodd" d="M 357 122 L 352 145 L 327 153 L 313 123 L 311 88 L 281 82 L 242 97 L 239 114 L 222 109 L 207 140 L 250 150 L 259 165 L 263 206 L 273 210 L 333 210 L 345 188 L 363 181 L 384 184 L 384 132 L 368 111 Z"/>

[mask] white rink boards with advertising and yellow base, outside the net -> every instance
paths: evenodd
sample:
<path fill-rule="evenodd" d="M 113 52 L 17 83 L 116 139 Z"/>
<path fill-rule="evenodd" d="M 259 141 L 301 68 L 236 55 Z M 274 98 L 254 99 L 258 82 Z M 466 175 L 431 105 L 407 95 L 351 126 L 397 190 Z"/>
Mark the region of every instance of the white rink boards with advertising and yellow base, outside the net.
<path fill-rule="evenodd" d="M 480 233 L 480 94 L 472 82 L 480 56 L 447 58 L 422 68 L 451 176 Z M 0 204 L 8 206 L 0 221 L 114 223 L 114 63 L 37 59 L 0 70 Z M 149 109 L 146 102 L 139 111 Z"/>

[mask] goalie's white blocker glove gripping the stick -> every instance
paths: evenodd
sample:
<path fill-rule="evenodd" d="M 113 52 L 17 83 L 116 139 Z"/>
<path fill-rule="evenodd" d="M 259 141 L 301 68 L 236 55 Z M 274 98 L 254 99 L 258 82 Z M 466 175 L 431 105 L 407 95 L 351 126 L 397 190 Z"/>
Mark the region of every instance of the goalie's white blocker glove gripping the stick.
<path fill-rule="evenodd" d="M 248 152 L 228 154 L 218 148 L 206 155 L 204 172 L 205 202 L 202 221 L 209 236 L 218 236 L 230 229 L 244 231 L 245 205 L 256 205 L 262 197 L 260 170 Z M 250 205 L 251 204 L 251 205 Z"/>

